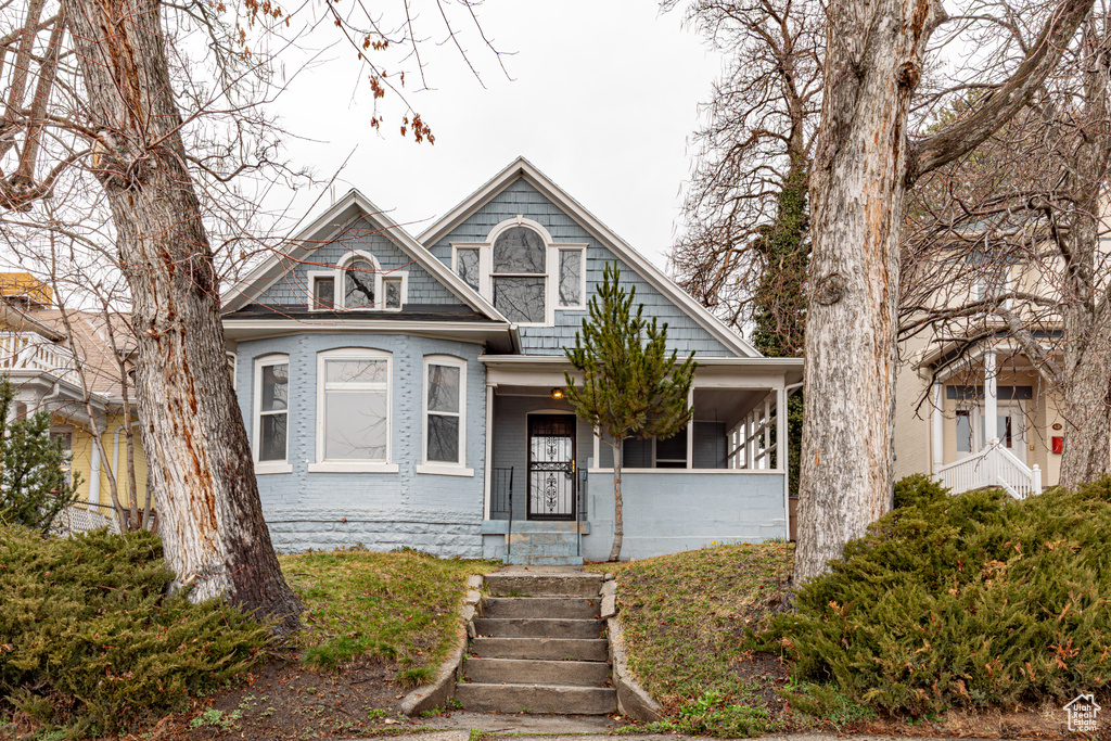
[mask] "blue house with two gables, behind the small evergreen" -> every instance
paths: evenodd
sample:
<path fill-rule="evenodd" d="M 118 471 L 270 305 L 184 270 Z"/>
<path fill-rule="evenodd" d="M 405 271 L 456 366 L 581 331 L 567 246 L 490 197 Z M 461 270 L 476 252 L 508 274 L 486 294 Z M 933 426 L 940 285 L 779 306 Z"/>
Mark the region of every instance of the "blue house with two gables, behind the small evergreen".
<path fill-rule="evenodd" d="M 532 563 L 604 559 L 612 455 L 562 398 L 607 263 L 695 352 L 694 422 L 627 441 L 624 555 L 788 533 L 767 359 L 518 160 L 419 238 L 352 191 L 224 301 L 281 550 L 361 543 Z"/>

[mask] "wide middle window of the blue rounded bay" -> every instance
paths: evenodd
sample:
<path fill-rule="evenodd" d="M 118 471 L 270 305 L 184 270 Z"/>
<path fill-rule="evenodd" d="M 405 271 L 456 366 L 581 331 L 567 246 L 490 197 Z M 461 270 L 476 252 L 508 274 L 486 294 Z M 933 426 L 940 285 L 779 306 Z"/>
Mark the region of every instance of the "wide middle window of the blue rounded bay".
<path fill-rule="evenodd" d="M 310 471 L 396 472 L 390 464 L 390 353 L 318 356 L 317 462 Z"/>

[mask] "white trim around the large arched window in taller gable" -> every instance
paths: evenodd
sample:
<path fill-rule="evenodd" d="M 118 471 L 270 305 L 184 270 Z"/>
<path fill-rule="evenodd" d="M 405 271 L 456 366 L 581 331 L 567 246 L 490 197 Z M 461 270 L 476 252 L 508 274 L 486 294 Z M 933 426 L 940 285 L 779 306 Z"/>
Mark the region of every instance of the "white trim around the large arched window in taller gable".
<path fill-rule="evenodd" d="M 526 227 L 540 234 L 544 243 L 544 271 L 539 273 L 498 273 L 498 278 L 538 278 L 544 279 L 544 321 L 542 322 L 517 322 L 518 327 L 553 327 L 556 324 L 557 311 L 582 311 L 587 308 L 587 247 L 584 242 L 557 242 L 551 232 L 544 229 L 543 224 L 533 219 L 528 219 L 522 214 L 517 214 L 510 219 L 499 222 L 487 234 L 483 242 L 450 242 L 451 244 L 451 270 L 459 274 L 459 250 L 479 251 L 479 293 L 487 301 L 493 303 L 493 243 L 498 237 L 508 229 L 514 227 Z M 559 306 L 559 252 L 560 250 L 580 250 L 582 252 L 582 269 L 580 271 L 582 281 L 580 290 L 581 303 L 575 307 Z"/>

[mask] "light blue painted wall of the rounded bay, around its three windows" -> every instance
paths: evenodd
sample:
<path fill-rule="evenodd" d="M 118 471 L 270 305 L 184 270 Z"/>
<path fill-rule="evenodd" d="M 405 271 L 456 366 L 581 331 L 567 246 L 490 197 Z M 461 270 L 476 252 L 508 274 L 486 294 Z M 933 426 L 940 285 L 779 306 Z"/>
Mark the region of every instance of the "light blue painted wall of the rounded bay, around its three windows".
<path fill-rule="evenodd" d="M 391 353 L 391 462 L 398 473 L 309 473 L 317 443 L 317 353 L 373 348 Z M 259 493 L 274 547 L 281 551 L 362 543 L 372 550 L 408 545 L 439 555 L 478 558 L 486 461 L 486 368 L 481 347 L 402 334 L 299 334 L 242 342 L 237 392 L 253 434 L 254 360 L 286 353 L 290 363 L 289 462 L 292 473 L 260 474 Z M 473 477 L 417 473 L 421 461 L 424 356 L 467 361 L 467 467 Z"/>

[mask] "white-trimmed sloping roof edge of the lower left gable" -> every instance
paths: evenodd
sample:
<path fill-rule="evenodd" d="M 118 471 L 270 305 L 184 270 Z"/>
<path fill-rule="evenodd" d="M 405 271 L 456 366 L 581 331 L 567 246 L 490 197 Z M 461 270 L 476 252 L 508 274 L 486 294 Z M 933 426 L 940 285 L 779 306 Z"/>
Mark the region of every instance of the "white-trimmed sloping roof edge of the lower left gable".
<path fill-rule="evenodd" d="M 382 228 L 381 233 L 387 239 L 397 244 L 399 249 L 413 259 L 413 262 L 427 270 L 464 304 L 492 321 L 509 323 L 501 312 L 493 308 L 492 303 L 479 296 L 459 276 L 449 270 L 420 242 L 414 240 L 408 231 L 386 216 L 382 209 L 374 206 L 370 199 L 354 188 L 308 227 L 299 231 L 290 240 L 292 244 L 287 251 L 274 251 L 251 270 L 246 278 L 228 289 L 221 297 L 223 312 L 230 313 L 242 309 L 260 297 L 286 274 L 287 260 L 303 260 L 317 246 L 342 233 L 342 230 L 359 217 L 366 217 L 377 222 Z"/>

